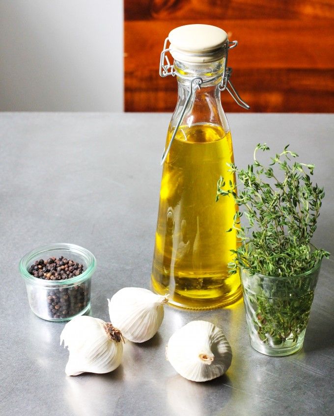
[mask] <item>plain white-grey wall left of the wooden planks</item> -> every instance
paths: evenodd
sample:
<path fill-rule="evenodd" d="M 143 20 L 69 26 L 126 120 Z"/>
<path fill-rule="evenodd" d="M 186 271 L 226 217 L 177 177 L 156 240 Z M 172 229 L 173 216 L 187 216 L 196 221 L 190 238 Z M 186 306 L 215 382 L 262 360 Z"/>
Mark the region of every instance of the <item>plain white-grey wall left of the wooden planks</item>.
<path fill-rule="evenodd" d="M 0 111 L 122 110 L 122 0 L 0 0 Z"/>

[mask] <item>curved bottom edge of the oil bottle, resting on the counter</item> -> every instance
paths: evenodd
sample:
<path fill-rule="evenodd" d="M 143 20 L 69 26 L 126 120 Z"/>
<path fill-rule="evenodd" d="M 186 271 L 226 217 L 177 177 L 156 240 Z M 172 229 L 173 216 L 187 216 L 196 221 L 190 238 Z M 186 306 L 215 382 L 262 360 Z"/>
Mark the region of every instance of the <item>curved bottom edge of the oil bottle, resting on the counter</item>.
<path fill-rule="evenodd" d="M 168 290 L 159 285 L 152 277 L 151 285 L 153 290 L 159 295 L 166 295 Z M 237 289 L 230 293 L 228 296 L 220 296 L 217 298 L 191 298 L 187 296 L 181 296 L 177 293 L 170 294 L 168 298 L 168 305 L 181 309 L 191 310 L 211 310 L 223 308 L 225 306 L 232 305 L 242 297 L 242 287 L 239 285 Z"/>

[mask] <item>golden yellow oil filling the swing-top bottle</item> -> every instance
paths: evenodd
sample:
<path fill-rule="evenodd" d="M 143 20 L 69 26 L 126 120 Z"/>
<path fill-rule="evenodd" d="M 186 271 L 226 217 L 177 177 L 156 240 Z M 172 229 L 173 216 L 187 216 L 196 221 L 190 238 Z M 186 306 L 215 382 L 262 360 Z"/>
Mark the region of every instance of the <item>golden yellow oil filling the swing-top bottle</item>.
<path fill-rule="evenodd" d="M 226 230 L 237 208 L 230 197 L 216 202 L 219 177 L 234 182 L 231 162 L 230 132 L 212 124 L 179 128 L 163 169 L 152 267 L 154 290 L 169 292 L 175 306 L 211 309 L 241 296 L 239 275 L 227 268 L 237 242 Z"/>

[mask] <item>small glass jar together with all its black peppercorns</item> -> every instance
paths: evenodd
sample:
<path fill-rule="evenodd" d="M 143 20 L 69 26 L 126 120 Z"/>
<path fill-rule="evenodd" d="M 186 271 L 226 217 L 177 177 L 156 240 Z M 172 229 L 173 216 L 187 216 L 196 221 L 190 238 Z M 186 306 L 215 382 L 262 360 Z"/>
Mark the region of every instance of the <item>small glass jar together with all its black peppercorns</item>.
<path fill-rule="evenodd" d="M 48 321 L 66 321 L 90 309 L 96 259 L 83 247 L 58 243 L 39 247 L 20 261 L 32 312 Z"/>

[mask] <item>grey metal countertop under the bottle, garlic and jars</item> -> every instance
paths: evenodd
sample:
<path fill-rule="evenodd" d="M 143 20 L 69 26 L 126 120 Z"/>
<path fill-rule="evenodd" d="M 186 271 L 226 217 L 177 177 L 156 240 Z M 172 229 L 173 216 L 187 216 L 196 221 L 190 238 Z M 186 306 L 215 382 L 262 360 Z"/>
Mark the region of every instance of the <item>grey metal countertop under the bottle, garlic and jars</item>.
<path fill-rule="evenodd" d="M 64 323 L 30 312 L 18 262 L 51 242 L 86 247 L 98 261 L 91 315 L 109 320 L 107 298 L 124 286 L 150 287 L 161 167 L 169 114 L 0 114 L 0 415 L 223 416 L 334 414 L 333 115 L 229 114 L 236 164 L 254 146 L 290 148 L 316 165 L 325 186 L 313 242 L 324 260 L 305 344 L 270 358 L 251 348 L 242 301 L 212 312 L 166 308 L 159 333 L 127 342 L 109 374 L 65 376 Z M 227 373 L 207 383 L 177 375 L 165 360 L 169 336 L 193 319 L 225 331 Z"/>

